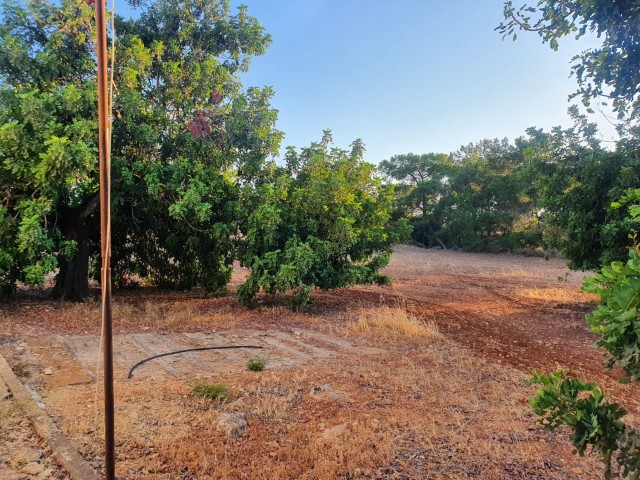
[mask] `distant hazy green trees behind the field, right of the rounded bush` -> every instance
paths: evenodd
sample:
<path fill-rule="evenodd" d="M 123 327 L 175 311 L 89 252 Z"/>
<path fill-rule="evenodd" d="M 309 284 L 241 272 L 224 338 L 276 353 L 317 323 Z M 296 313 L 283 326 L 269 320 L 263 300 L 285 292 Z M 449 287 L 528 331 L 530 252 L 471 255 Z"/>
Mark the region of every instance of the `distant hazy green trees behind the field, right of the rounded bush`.
<path fill-rule="evenodd" d="M 501 251 L 540 244 L 533 203 L 523 193 L 522 154 L 483 140 L 452 155 L 397 155 L 380 164 L 397 186 L 396 214 L 427 246 Z"/>

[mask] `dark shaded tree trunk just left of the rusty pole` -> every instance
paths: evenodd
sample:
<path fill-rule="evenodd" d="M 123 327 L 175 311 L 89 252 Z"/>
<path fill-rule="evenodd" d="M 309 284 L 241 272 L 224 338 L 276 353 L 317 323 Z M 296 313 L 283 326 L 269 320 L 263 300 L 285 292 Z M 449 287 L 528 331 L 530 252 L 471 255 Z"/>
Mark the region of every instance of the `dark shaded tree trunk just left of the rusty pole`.
<path fill-rule="evenodd" d="M 65 300 L 84 300 L 89 296 L 89 256 L 91 254 L 91 213 L 97 196 L 87 205 L 59 212 L 60 230 L 65 240 L 76 242 L 72 258 L 59 258 L 60 269 L 52 295 Z"/>

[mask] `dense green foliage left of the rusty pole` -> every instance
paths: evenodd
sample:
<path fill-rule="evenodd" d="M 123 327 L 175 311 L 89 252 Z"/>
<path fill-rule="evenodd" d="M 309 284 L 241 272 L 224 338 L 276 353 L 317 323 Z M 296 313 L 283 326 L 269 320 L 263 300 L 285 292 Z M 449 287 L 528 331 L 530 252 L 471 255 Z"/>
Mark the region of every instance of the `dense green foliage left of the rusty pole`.
<path fill-rule="evenodd" d="M 0 296 L 42 285 L 75 254 L 64 213 L 95 195 L 92 9 L 82 2 L 0 7 Z M 40 26 L 47 25 L 45 29 Z M 64 80 L 63 80 L 64 79 Z"/>

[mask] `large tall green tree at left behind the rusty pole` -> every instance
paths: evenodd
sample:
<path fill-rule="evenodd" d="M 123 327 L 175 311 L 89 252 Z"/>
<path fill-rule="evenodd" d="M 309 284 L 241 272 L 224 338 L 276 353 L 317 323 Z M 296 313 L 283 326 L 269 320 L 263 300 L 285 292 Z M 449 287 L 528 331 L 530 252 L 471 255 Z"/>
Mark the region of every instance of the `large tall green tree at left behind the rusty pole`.
<path fill-rule="evenodd" d="M 97 253 L 93 13 L 81 0 L 7 1 L 0 24 L 0 280 L 88 294 Z M 238 73 L 270 42 L 227 0 L 158 0 L 116 17 L 113 271 L 217 291 L 230 276 L 239 192 L 281 133 L 272 90 Z M 94 272 L 94 274 L 97 272 Z"/>

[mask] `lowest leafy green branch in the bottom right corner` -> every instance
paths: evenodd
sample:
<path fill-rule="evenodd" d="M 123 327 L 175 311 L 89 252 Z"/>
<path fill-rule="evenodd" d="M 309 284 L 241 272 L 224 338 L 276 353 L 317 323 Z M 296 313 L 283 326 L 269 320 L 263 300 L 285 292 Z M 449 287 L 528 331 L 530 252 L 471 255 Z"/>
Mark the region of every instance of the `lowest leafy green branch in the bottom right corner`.
<path fill-rule="evenodd" d="M 568 377 L 562 370 L 551 375 L 534 372 L 529 383 L 542 385 L 530 405 L 546 429 L 569 426 L 571 442 L 581 456 L 600 456 L 605 478 L 613 478 L 614 460 L 622 478 L 640 478 L 640 437 L 622 421 L 627 412 L 605 402 L 595 383 Z"/>

